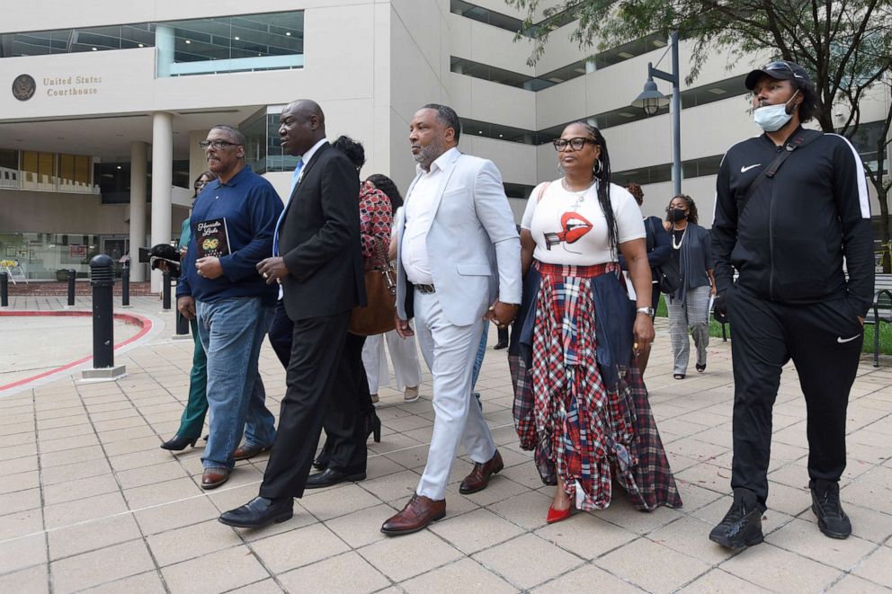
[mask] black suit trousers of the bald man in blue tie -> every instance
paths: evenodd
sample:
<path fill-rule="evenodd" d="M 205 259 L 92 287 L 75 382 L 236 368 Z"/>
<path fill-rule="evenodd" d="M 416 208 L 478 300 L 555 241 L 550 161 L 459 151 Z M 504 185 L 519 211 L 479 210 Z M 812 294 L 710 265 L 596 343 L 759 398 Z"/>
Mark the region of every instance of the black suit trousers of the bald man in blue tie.
<path fill-rule="evenodd" d="M 343 395 L 333 389 L 349 323 L 349 311 L 294 323 L 287 388 L 279 430 L 260 485 L 262 497 L 301 497 L 326 409 L 352 408 L 352 403 L 344 404 Z"/>

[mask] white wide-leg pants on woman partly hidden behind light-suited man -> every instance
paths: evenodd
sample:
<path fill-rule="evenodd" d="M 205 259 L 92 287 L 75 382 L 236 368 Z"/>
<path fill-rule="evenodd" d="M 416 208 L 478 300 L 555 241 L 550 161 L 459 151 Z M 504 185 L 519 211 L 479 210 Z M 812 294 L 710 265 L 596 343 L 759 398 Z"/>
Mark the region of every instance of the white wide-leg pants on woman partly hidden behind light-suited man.
<path fill-rule="evenodd" d="M 397 378 L 397 390 L 418 386 L 421 383 L 421 368 L 418 365 L 415 337 L 400 338 L 396 330 L 391 330 L 369 336 L 362 347 L 362 364 L 365 366 L 365 375 L 369 378 L 369 393 L 378 394 L 379 388 L 390 386 L 384 337 L 387 337 L 390 362 L 393 363 L 393 372 Z"/>

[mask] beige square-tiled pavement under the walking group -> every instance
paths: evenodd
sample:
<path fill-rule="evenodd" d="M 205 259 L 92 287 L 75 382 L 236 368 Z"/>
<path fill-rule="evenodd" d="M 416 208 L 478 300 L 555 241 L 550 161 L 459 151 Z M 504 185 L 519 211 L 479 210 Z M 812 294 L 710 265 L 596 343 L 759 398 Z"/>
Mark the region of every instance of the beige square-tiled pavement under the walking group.
<path fill-rule="evenodd" d="M 485 491 L 463 496 L 458 482 L 471 464 L 459 459 L 446 519 L 412 536 L 379 532 L 424 467 L 433 411 L 423 365 L 419 402 L 380 392 L 384 430 L 370 443 L 368 480 L 308 492 L 288 522 L 236 530 L 217 516 L 254 497 L 266 456 L 237 463 L 227 484 L 203 492 L 201 447 L 179 456 L 158 448 L 179 424 L 192 343 L 170 340 L 173 314 L 139 299 L 134 311 L 160 324 L 116 353 L 128 377 L 82 385 L 72 375 L 0 397 L 2 592 L 890 591 L 888 359 L 879 369 L 864 359 L 852 389 L 847 540 L 821 535 L 810 510 L 805 403 L 790 366 L 775 406 L 766 542 L 737 554 L 709 542 L 731 501 L 729 344 L 713 341 L 706 373 L 691 367 L 673 380 L 664 321 L 646 380 L 681 510 L 639 512 L 620 492 L 608 510 L 547 526 L 553 487 L 518 447 L 504 350 L 490 349 L 477 389 L 506 467 Z M 27 304 L 37 306 L 51 304 Z M 284 372 L 268 344 L 261 370 L 278 414 Z"/>

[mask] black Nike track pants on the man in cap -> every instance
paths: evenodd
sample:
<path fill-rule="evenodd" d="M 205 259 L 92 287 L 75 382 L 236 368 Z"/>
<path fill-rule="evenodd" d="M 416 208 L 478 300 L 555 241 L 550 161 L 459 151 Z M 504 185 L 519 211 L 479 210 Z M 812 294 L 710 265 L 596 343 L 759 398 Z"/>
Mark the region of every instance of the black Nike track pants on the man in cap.
<path fill-rule="evenodd" d="M 733 326 L 734 461 L 731 487 L 768 498 L 772 407 L 781 368 L 792 359 L 806 399 L 808 475 L 838 481 L 845 469 L 845 414 L 858 371 L 863 328 L 847 299 L 807 305 L 728 291 Z"/>

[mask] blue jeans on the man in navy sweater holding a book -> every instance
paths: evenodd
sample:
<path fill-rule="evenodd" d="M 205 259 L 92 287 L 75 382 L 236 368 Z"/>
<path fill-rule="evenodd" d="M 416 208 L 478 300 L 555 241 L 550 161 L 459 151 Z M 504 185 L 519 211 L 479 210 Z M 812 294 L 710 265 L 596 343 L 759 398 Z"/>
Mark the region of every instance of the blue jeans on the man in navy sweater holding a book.
<path fill-rule="evenodd" d="M 272 307 L 260 297 L 233 297 L 196 304 L 201 344 L 208 354 L 210 436 L 205 468 L 232 468 L 232 453 L 245 445 L 268 447 L 275 439 L 272 412 L 257 372 L 260 346 L 272 324 Z M 247 425 L 245 426 L 245 422 Z"/>

